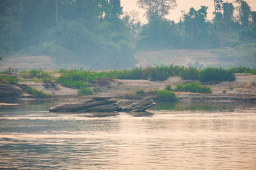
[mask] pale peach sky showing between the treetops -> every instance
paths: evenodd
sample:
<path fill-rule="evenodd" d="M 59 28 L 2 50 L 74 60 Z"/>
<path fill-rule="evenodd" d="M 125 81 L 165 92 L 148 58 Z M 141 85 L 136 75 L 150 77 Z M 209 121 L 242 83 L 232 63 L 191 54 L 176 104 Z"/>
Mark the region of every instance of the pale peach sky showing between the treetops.
<path fill-rule="evenodd" d="M 120 0 L 121 5 L 123 6 L 123 10 L 128 12 L 132 10 L 136 10 L 140 12 L 140 20 L 141 22 L 145 22 L 145 17 L 143 17 L 145 11 L 141 10 L 137 6 L 137 0 Z M 228 1 L 228 2 L 234 2 Z M 175 10 L 171 10 L 170 14 L 168 15 L 168 19 L 174 20 L 175 22 L 178 22 L 182 13 L 181 10 L 185 10 L 186 12 L 189 11 L 189 8 L 194 7 L 196 10 L 200 8 L 201 5 L 208 6 L 207 10 L 207 17 L 211 20 L 212 18 L 212 12 L 214 11 L 214 3 L 213 0 L 176 0 L 177 2 L 177 8 Z M 226 2 L 226 1 L 224 1 Z M 256 0 L 246 0 L 246 2 L 251 6 L 253 11 L 256 11 Z M 233 3 L 236 4 L 236 3 Z"/>

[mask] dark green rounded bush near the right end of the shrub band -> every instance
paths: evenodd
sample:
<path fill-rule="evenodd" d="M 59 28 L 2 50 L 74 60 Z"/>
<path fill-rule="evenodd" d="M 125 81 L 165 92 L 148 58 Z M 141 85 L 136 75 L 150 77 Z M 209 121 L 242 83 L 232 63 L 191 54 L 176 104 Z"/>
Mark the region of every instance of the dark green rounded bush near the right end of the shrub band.
<path fill-rule="evenodd" d="M 232 71 L 223 68 L 207 67 L 199 74 L 200 81 L 234 81 L 236 76 Z"/>

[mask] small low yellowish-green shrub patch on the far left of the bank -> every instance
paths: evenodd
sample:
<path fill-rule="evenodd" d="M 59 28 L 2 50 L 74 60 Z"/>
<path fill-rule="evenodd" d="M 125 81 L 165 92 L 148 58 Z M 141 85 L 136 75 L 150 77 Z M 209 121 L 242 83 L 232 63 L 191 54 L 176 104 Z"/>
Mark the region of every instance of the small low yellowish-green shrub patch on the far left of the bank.
<path fill-rule="evenodd" d="M 49 78 L 51 75 L 42 69 L 31 69 L 30 71 L 20 71 L 22 78 Z"/>

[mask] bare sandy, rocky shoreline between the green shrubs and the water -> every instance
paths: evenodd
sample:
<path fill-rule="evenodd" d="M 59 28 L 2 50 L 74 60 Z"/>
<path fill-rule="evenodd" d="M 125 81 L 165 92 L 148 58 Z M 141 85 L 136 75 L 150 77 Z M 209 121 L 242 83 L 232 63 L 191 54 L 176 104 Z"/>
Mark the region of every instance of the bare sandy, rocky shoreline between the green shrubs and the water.
<path fill-rule="evenodd" d="M 177 83 L 187 83 L 192 80 L 182 80 L 180 77 L 170 77 L 166 81 L 148 81 L 148 80 L 115 80 L 108 87 L 100 87 L 102 89 L 96 95 L 92 96 L 77 96 L 76 89 L 62 87 L 57 84 L 54 88 L 46 88 L 43 83 L 36 83 L 32 81 L 20 82 L 18 86 L 15 85 L 0 85 L 0 98 L 14 98 L 20 100 L 35 100 L 29 94 L 22 92 L 19 86 L 28 85 L 29 87 L 41 90 L 52 94 L 54 100 L 70 100 L 70 101 L 84 101 L 92 97 L 108 96 L 115 99 L 140 100 L 143 98 L 153 98 L 154 90 L 164 89 L 166 85 L 175 85 Z M 209 85 L 212 89 L 212 94 L 197 94 L 190 92 L 175 92 L 180 101 L 241 101 L 241 102 L 255 102 L 256 101 L 256 75 L 251 74 L 236 74 L 235 81 L 223 81 L 221 83 L 213 83 Z M 9 88 L 9 89 L 6 89 Z M 143 89 L 145 94 L 138 96 L 134 95 L 136 90 Z M 223 91 L 225 90 L 225 93 Z"/>

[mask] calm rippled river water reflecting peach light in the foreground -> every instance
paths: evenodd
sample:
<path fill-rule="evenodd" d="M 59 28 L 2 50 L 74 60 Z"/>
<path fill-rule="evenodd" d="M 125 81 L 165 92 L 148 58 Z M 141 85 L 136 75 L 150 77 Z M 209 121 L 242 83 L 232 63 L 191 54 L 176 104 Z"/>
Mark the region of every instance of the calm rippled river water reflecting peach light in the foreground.
<path fill-rule="evenodd" d="M 256 104 L 159 104 L 150 113 L 0 108 L 0 168 L 256 169 Z"/>

